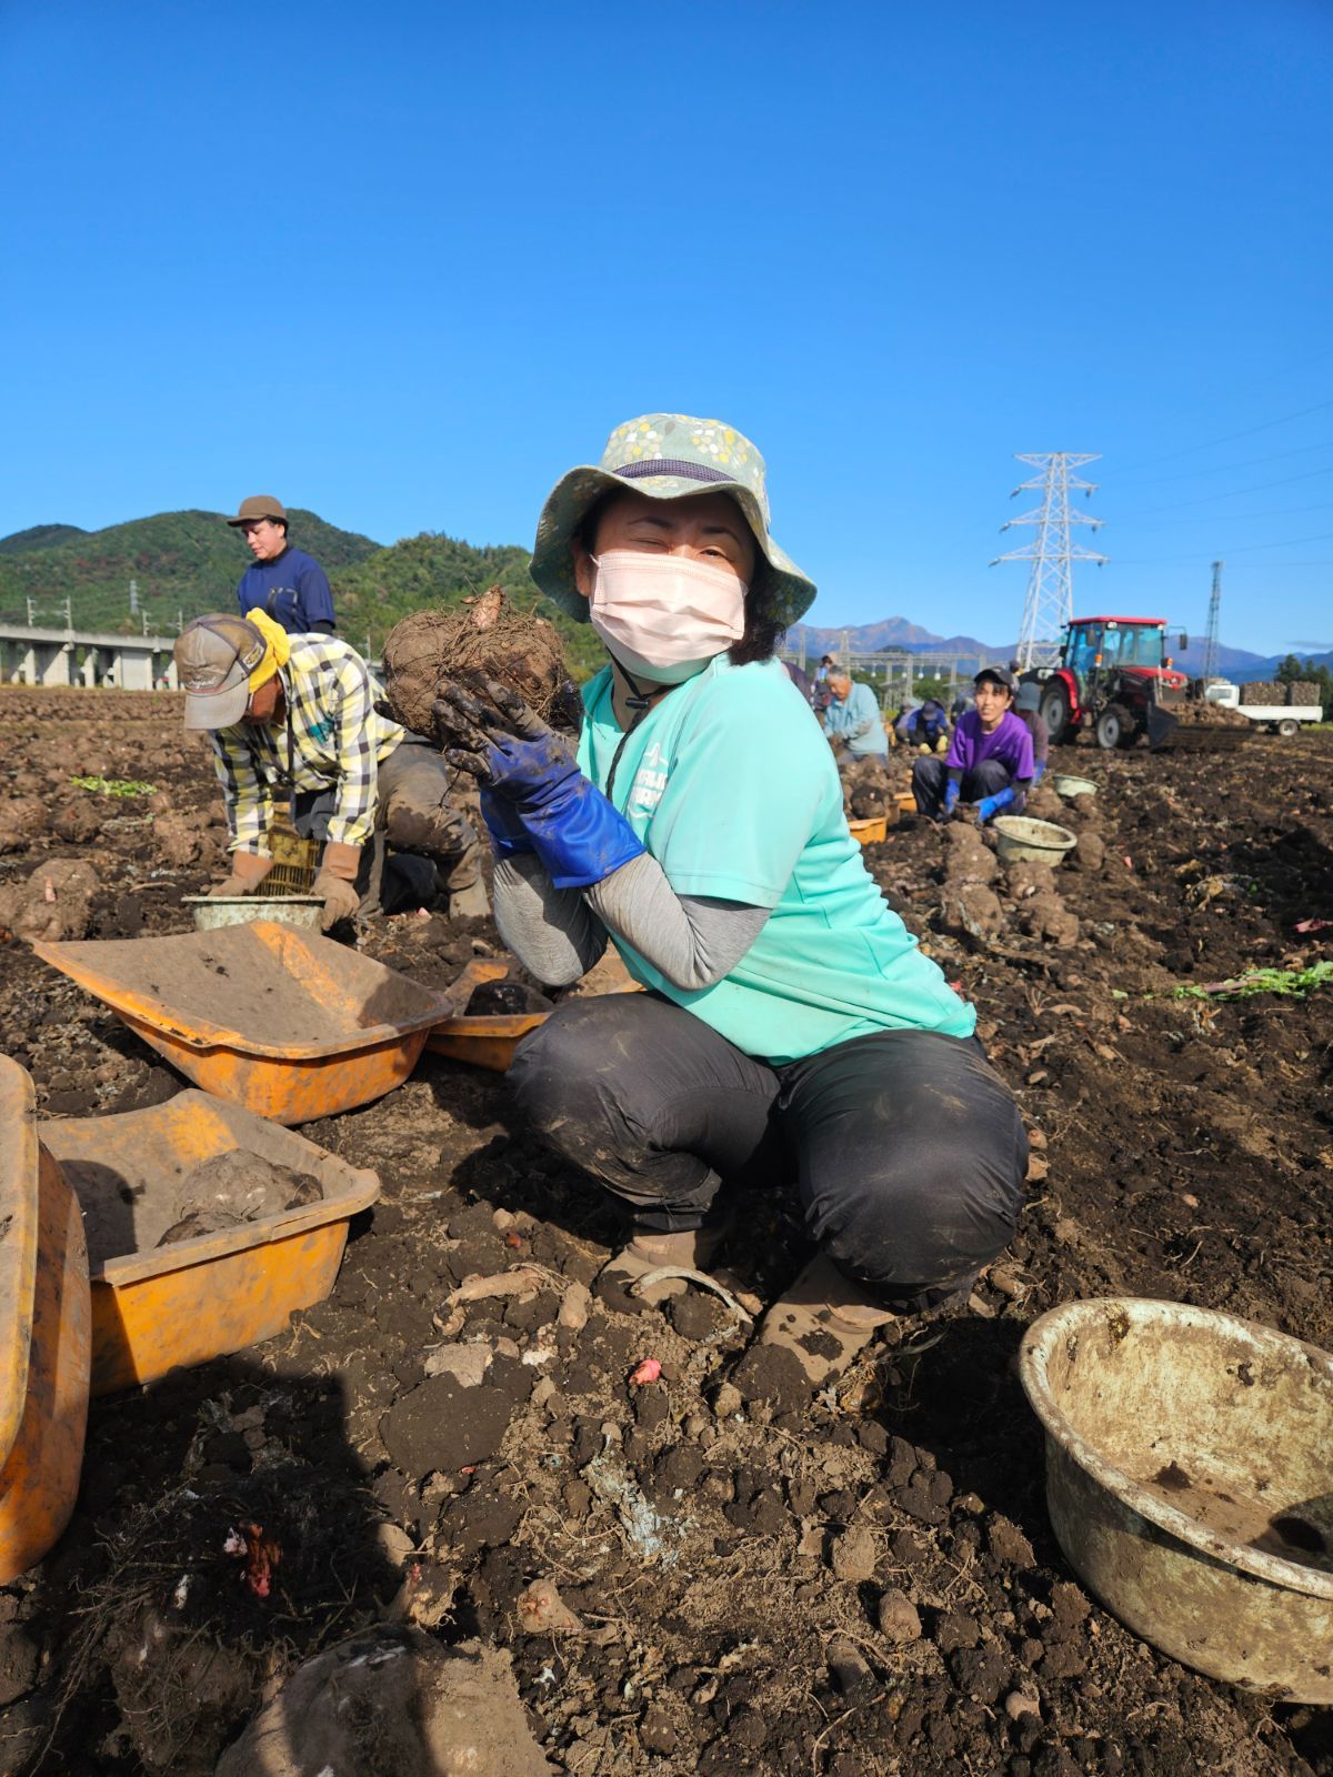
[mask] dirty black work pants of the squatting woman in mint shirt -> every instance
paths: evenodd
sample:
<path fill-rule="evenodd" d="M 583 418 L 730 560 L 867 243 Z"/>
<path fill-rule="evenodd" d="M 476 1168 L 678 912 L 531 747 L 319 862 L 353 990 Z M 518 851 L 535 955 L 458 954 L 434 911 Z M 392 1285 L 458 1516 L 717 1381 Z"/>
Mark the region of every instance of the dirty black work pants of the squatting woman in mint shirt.
<path fill-rule="evenodd" d="M 727 1182 L 794 1180 L 805 1228 L 890 1306 L 965 1290 L 1008 1244 L 1027 1136 L 976 1040 L 882 1031 L 770 1066 L 654 993 L 569 1000 L 523 1040 L 519 1105 L 640 1228 Z"/>

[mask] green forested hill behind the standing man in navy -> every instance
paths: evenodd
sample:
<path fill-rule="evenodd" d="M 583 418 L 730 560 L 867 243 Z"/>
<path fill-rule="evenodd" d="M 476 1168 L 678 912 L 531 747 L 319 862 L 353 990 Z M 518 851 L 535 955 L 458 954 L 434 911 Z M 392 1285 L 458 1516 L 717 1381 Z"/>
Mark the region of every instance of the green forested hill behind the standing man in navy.
<path fill-rule="evenodd" d="M 457 604 L 487 586 L 505 586 L 524 610 L 549 617 L 565 636 L 579 677 L 606 656 L 587 624 L 572 624 L 528 579 L 528 551 L 514 544 L 478 549 L 423 531 L 382 547 L 341 531 L 313 512 L 293 508 L 290 538 L 322 563 L 334 592 L 338 629 L 355 647 L 379 654 L 384 636 L 407 611 Z M 69 599 L 75 629 L 174 634 L 203 611 L 235 610 L 236 581 L 251 560 L 219 512 L 160 512 L 151 519 L 80 531 L 39 524 L 0 538 L 0 618 L 64 626 Z M 130 611 L 135 581 L 137 613 Z"/>

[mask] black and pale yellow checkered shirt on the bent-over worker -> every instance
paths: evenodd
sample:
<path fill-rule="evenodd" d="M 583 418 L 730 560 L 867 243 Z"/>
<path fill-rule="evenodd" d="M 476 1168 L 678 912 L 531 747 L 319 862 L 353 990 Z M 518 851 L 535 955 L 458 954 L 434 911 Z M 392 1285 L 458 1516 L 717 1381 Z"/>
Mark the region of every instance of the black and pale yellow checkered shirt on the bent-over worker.
<path fill-rule="evenodd" d="M 227 805 L 229 851 L 268 855 L 274 809 L 286 812 L 293 791 L 338 787 L 329 839 L 364 846 L 375 823 L 379 766 L 403 737 L 377 716 L 380 688 L 357 650 L 336 636 L 293 636 L 279 668 L 291 721 L 291 782 L 286 721 L 213 732 L 213 764 Z"/>

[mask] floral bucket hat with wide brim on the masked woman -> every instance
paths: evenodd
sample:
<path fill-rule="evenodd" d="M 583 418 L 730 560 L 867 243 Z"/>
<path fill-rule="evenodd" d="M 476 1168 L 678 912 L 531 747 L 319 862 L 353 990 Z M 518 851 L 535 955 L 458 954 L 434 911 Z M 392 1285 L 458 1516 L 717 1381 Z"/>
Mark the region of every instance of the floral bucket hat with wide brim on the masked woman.
<path fill-rule="evenodd" d="M 542 506 L 531 578 L 562 611 L 588 620 L 588 601 L 574 585 L 571 542 L 603 494 L 626 489 L 649 499 L 729 494 L 768 563 L 764 588 L 778 622 L 794 624 L 814 602 L 814 581 L 768 533 L 764 458 L 754 444 L 720 419 L 643 414 L 615 428 L 595 467 L 585 464 L 562 476 Z"/>

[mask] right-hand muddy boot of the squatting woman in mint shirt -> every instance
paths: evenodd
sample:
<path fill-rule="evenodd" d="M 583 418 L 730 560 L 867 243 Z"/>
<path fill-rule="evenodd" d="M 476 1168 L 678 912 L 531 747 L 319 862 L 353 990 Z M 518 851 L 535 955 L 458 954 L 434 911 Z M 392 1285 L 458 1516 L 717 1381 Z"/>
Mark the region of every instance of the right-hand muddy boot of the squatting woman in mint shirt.
<path fill-rule="evenodd" d="M 746 1400 L 794 1407 L 828 1388 L 898 1315 L 816 1253 L 778 1295 L 732 1377 Z"/>

